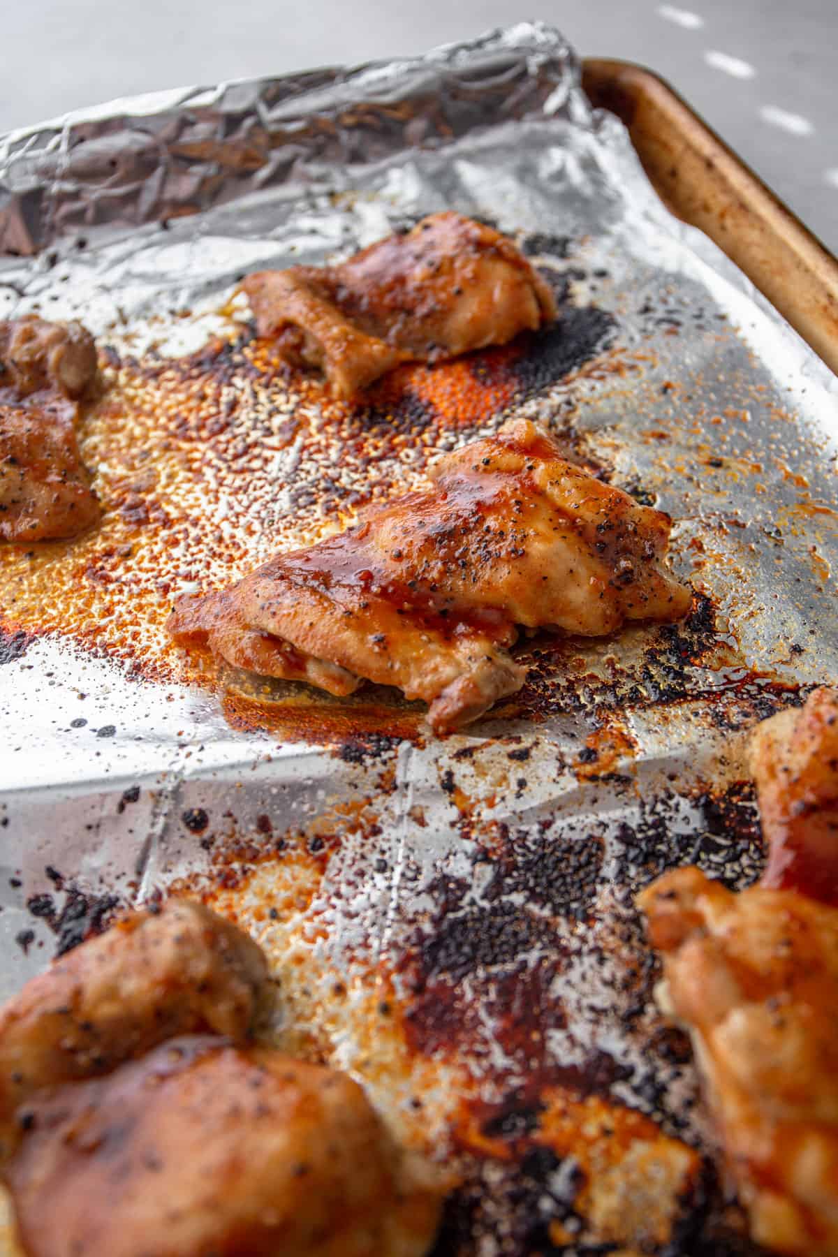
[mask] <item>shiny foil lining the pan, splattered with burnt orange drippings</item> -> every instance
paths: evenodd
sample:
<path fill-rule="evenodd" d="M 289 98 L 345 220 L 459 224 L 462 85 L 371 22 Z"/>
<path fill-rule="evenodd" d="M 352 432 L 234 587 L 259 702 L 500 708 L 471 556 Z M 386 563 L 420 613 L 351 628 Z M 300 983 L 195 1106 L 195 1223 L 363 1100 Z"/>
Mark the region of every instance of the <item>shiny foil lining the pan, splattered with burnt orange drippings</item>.
<path fill-rule="evenodd" d="M 332 401 L 239 279 L 452 207 L 515 238 L 555 328 Z M 122 904 L 234 915 L 278 1040 L 445 1168 L 438 1253 L 739 1253 L 633 896 L 763 861 L 744 744 L 838 681 L 835 378 L 594 113 L 562 36 L 117 102 L 0 140 L 0 317 L 79 318 L 104 508 L 0 549 L 3 994 Z M 539 635 L 524 690 L 421 705 L 211 669 L 163 631 L 513 415 L 675 519 L 680 625 Z"/>

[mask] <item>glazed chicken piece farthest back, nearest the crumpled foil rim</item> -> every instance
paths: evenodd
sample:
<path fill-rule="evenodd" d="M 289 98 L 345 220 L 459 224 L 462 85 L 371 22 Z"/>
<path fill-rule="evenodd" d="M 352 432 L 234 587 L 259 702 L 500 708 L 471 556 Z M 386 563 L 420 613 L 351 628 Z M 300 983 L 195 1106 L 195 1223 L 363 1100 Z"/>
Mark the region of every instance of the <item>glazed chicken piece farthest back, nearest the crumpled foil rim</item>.
<path fill-rule="evenodd" d="M 248 275 L 259 336 L 351 398 L 400 362 L 505 344 L 557 316 L 547 283 L 500 233 L 447 211 L 338 266 Z"/>

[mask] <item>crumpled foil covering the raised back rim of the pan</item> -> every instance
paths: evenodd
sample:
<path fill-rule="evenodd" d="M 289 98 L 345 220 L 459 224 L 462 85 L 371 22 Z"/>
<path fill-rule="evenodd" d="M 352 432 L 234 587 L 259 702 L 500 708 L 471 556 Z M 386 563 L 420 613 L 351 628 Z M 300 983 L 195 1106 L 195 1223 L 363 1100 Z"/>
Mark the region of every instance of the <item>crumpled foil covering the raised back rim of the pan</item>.
<path fill-rule="evenodd" d="M 479 102 L 484 127 L 534 108 L 550 117 L 570 102 L 577 121 L 592 112 L 582 93 L 572 91 L 579 82 L 574 54 L 541 21 L 498 28 L 471 43 L 396 62 L 121 98 L 0 137 L 0 256 L 30 256 L 68 233 L 103 224 L 133 229 L 170 215 L 197 214 L 235 200 L 245 184 L 259 190 L 298 180 L 315 186 L 318 173 L 323 180 L 329 175 L 318 172 L 310 152 L 304 168 L 294 162 L 300 133 L 310 145 L 313 128 L 320 133 L 323 162 L 333 160 L 329 145 L 340 132 L 347 168 L 367 163 L 371 123 L 381 140 L 376 160 L 392 156 L 405 136 L 388 127 L 389 116 L 398 113 L 406 97 L 438 97 L 441 80 L 465 101 Z M 353 118 L 357 109 L 362 119 Z M 356 147 L 352 136 L 359 122 L 364 140 Z M 469 111 L 460 118 L 442 114 L 432 126 L 417 127 L 415 142 L 450 143 L 474 123 Z M 151 196 L 136 195 L 133 171 L 121 180 L 126 127 L 133 147 L 144 147 L 146 165 L 157 168 Z M 103 186 L 107 199 L 85 199 Z"/>

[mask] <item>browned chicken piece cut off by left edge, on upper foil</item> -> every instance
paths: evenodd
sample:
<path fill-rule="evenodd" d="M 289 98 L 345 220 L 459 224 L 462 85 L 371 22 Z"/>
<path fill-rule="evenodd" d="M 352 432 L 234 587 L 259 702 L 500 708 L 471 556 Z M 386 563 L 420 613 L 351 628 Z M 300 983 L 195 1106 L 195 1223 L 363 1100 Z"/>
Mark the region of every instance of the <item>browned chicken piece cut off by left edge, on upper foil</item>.
<path fill-rule="evenodd" d="M 79 323 L 0 322 L 0 542 L 74 537 L 98 520 L 75 435 L 95 375 Z"/>

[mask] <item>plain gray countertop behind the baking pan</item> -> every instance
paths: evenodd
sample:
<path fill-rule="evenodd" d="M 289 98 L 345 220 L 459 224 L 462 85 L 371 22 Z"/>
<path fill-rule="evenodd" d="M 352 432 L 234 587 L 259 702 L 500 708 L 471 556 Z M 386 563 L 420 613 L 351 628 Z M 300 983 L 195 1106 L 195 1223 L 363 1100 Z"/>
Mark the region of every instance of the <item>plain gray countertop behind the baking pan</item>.
<path fill-rule="evenodd" d="M 838 251 L 838 0 L 35 0 L 4 13 L 0 131 L 187 83 L 356 63 L 541 18 L 663 74 Z"/>

